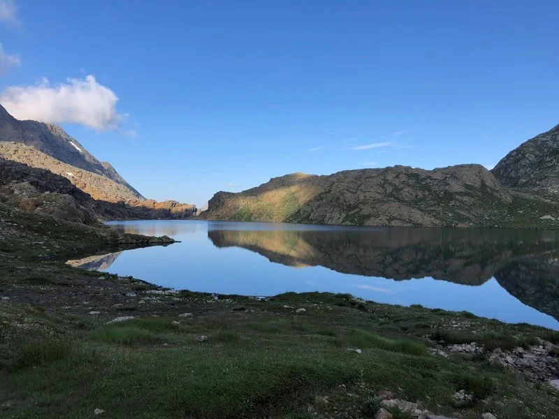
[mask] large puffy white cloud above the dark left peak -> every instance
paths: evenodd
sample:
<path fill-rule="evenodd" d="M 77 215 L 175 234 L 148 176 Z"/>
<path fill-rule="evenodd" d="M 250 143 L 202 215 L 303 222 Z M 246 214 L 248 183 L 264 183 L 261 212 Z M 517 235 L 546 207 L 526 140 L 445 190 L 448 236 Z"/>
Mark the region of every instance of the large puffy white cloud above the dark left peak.
<path fill-rule="evenodd" d="M 57 86 L 43 79 L 34 86 L 8 87 L 0 94 L 0 103 L 17 119 L 71 122 L 99 131 L 117 128 L 126 117 L 117 112 L 117 101 L 115 92 L 99 84 L 93 75 L 68 78 Z"/>

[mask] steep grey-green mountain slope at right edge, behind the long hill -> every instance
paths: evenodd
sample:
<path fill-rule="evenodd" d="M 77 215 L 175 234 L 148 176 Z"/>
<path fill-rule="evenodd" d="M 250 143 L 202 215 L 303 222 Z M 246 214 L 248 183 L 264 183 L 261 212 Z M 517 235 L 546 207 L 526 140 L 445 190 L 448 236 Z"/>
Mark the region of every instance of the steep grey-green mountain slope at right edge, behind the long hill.
<path fill-rule="evenodd" d="M 559 194 L 559 125 L 523 142 L 491 170 L 504 186 Z M 556 199 L 557 200 L 557 199 Z"/>

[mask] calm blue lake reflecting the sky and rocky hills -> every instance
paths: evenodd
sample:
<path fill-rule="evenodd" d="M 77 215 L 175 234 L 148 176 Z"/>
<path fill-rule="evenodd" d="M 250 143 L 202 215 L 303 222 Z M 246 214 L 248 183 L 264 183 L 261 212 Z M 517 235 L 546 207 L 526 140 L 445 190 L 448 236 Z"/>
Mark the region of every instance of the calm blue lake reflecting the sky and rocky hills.
<path fill-rule="evenodd" d="M 124 221 L 182 243 L 71 261 L 191 291 L 331 291 L 559 330 L 559 231 Z"/>

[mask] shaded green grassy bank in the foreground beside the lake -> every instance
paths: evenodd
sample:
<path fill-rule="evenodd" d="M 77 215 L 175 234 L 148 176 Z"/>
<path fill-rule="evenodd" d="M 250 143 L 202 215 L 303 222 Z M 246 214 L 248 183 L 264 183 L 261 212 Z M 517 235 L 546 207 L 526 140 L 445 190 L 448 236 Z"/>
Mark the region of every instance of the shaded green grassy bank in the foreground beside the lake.
<path fill-rule="evenodd" d="M 44 226 L 41 254 L 87 247 L 87 235 L 58 227 Z M 37 258 L 26 237 L 0 256 L 0 417 L 371 418 L 379 390 L 447 416 L 558 416 L 548 385 L 481 355 L 429 351 L 559 341 L 550 330 L 350 295 L 165 291 Z M 108 324 L 122 316 L 134 318 Z M 456 402 L 458 390 L 474 399 Z"/>

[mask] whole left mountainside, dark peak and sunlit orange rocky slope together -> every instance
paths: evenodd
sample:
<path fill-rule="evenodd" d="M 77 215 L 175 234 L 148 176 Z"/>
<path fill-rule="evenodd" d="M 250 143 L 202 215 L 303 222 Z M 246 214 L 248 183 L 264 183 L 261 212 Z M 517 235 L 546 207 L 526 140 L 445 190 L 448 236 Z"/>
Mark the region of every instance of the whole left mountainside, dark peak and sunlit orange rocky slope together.
<path fill-rule="evenodd" d="M 76 205 L 92 212 L 89 216 L 96 214 L 101 219 L 175 219 L 196 214 L 195 205 L 173 200 L 161 203 L 147 200 L 110 163 L 96 159 L 61 127 L 43 122 L 20 121 L 1 105 L 0 158 L 0 173 L 3 174 L 0 186 L 12 184 L 8 189 L 15 193 L 21 192 L 22 186 L 14 189 L 14 182 L 39 185 L 40 190 L 35 192 L 24 188 L 27 198 L 31 195 L 38 203 L 42 202 L 38 196 L 41 193 L 69 193 L 77 199 Z M 18 166 L 15 163 L 21 164 Z M 57 177 L 64 178 L 66 182 Z M 76 190 L 68 189 L 70 184 Z M 4 192 L 8 189 L 5 188 Z M 57 205 L 64 203 L 59 200 Z M 41 205 L 37 208 L 40 210 Z"/>

